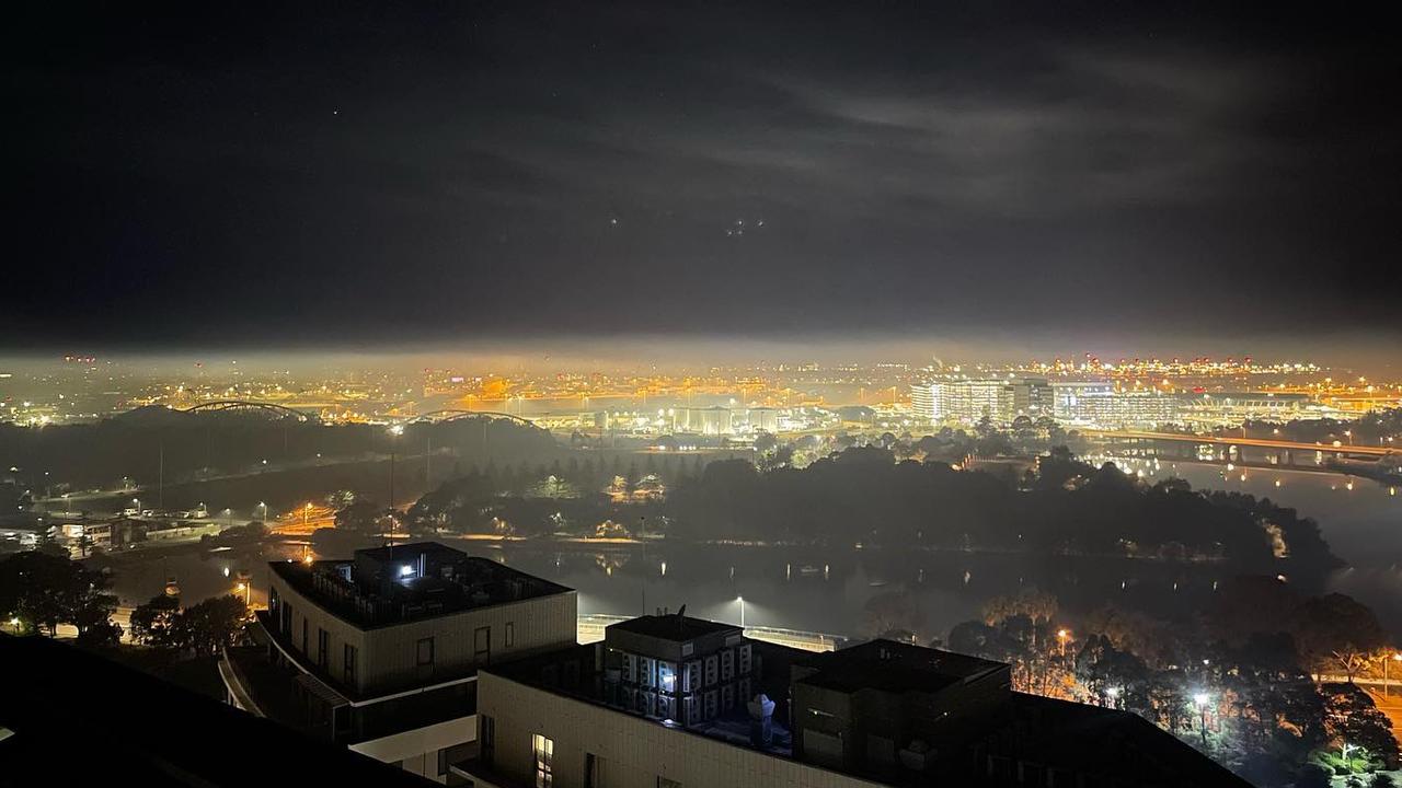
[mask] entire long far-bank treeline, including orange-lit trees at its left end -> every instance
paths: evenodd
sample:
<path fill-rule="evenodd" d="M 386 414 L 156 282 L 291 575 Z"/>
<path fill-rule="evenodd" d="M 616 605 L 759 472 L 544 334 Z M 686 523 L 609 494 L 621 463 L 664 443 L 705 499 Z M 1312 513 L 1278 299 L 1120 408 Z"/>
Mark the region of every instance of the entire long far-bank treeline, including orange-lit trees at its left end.
<path fill-rule="evenodd" d="M 1021 480 L 955 471 L 944 461 L 896 461 L 854 447 L 805 468 L 695 457 L 639 463 L 578 457 L 474 468 L 426 494 L 411 527 L 519 536 L 589 534 L 604 520 L 652 523 L 684 541 L 770 541 L 924 547 L 1223 562 L 1232 572 L 1288 575 L 1318 585 L 1339 565 L 1318 524 L 1269 499 L 1154 485 L 1066 450 Z M 667 464 L 670 463 L 670 464 Z M 764 466 L 764 463 L 761 463 Z M 639 495 L 651 475 L 665 496 Z M 613 481 L 613 494 L 604 494 Z"/>

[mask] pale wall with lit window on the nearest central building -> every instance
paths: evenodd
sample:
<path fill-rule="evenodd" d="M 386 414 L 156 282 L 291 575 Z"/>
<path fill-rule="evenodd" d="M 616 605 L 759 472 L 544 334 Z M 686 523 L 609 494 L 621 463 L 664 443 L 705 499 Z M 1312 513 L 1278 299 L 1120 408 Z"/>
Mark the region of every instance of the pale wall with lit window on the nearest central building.
<path fill-rule="evenodd" d="M 586 756 L 604 761 L 608 788 L 658 788 L 658 777 L 686 788 L 866 788 L 879 784 L 670 729 L 484 672 L 478 719 L 495 722 L 494 771 L 534 785 L 531 736 L 554 742 L 554 785 L 583 788 Z"/>

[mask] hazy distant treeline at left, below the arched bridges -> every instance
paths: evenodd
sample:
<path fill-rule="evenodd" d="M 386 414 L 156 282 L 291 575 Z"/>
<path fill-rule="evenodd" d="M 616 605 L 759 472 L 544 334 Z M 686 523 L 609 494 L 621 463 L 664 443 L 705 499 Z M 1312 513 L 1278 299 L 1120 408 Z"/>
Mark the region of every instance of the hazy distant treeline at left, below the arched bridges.
<path fill-rule="evenodd" d="M 411 423 L 394 436 L 383 425 L 325 426 L 248 412 L 184 414 L 143 408 L 97 423 L 49 428 L 0 425 L 0 463 L 42 494 L 67 488 L 114 488 L 123 478 L 157 482 L 164 457 L 165 484 L 202 475 L 236 474 L 264 466 L 310 463 L 318 456 L 422 454 L 429 446 L 461 460 L 485 456 L 506 461 L 559 451 L 550 433 L 510 421 L 464 418 Z M 48 475 L 45 473 L 48 471 Z M 64 487 L 66 485 L 66 487 Z"/>

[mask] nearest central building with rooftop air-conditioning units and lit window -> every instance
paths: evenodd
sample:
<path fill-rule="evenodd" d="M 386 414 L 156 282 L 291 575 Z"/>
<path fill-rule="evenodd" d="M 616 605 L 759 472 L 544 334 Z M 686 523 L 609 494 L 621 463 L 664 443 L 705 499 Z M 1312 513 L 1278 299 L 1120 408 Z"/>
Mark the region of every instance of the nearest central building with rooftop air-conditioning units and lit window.
<path fill-rule="evenodd" d="M 695 695 L 674 680 L 688 660 L 744 644 L 747 700 L 667 714 Z M 649 653 L 646 677 L 622 674 Z M 1008 665 L 893 641 L 815 655 L 649 616 L 479 681 L 478 754 L 450 766 L 477 788 L 1245 785 L 1133 714 L 1022 695 Z"/>

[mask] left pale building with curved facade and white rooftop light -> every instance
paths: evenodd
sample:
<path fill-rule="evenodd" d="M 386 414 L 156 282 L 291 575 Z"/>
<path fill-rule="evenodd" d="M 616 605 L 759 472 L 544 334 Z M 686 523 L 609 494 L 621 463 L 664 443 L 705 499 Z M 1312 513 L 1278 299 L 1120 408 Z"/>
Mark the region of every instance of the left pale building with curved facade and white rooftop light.
<path fill-rule="evenodd" d="M 229 701 L 440 782 L 477 738 L 478 672 L 575 644 L 572 589 L 442 544 L 268 569 Z"/>

